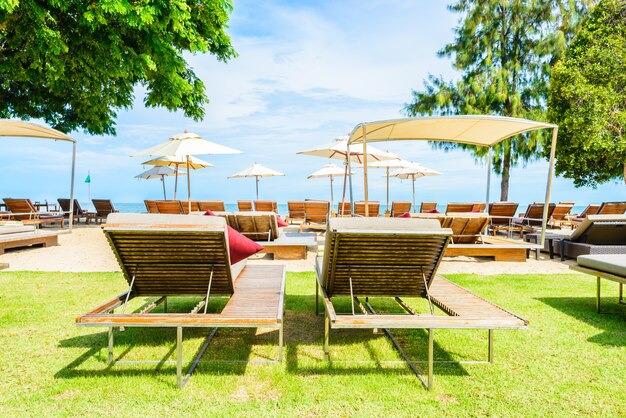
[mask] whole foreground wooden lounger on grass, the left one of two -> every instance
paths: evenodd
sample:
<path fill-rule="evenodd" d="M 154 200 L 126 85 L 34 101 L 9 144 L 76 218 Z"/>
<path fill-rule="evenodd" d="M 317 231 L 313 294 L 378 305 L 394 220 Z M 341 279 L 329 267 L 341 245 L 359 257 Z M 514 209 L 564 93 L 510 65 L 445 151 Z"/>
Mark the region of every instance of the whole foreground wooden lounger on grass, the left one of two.
<path fill-rule="evenodd" d="M 179 387 L 187 380 L 182 373 L 183 328 L 278 329 L 278 361 L 282 360 L 285 267 L 245 266 L 245 260 L 231 266 L 224 219 L 114 213 L 103 229 L 129 288 L 76 318 L 76 325 L 109 329 L 109 364 L 115 363 L 113 330 L 121 327 L 176 328 Z M 230 297 L 221 312 L 208 309 L 209 298 L 216 295 Z M 193 309 L 188 305 L 185 312 L 170 312 L 168 299 L 179 296 L 197 297 L 198 303 Z M 129 301 L 146 297 L 150 303 L 129 310 Z M 153 313 L 161 306 L 160 313 Z M 214 334 L 207 337 L 188 377 Z"/>

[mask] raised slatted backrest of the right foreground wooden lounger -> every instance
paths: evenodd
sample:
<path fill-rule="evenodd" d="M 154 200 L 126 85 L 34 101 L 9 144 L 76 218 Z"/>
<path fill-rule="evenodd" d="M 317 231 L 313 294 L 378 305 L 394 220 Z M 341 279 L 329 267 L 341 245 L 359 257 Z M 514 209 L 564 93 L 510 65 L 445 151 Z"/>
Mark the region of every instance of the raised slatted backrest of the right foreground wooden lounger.
<path fill-rule="evenodd" d="M 329 297 L 424 297 L 451 234 L 436 219 L 332 218 L 322 287 Z"/>

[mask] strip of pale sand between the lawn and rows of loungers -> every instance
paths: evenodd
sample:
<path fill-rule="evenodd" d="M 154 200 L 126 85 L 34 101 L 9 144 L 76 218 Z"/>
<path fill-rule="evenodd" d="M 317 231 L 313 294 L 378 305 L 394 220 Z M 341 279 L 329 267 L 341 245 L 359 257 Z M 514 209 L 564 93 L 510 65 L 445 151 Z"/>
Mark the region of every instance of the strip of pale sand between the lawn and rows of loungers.
<path fill-rule="evenodd" d="M 253 256 L 254 264 L 281 263 L 287 271 L 313 271 L 316 253 L 309 251 L 306 260 L 274 261 L 271 256 Z M 0 255 L 0 263 L 9 263 L 8 270 L 35 271 L 120 271 L 117 260 L 99 226 L 78 225 L 71 234 L 59 236 L 59 245 L 48 248 L 32 247 L 7 250 Z M 553 274 L 572 273 L 569 266 L 573 261 L 550 260 L 542 254 L 540 260 L 531 256 L 524 263 L 495 262 L 489 258 L 446 257 L 439 267 L 442 274 L 476 273 L 492 274 Z"/>

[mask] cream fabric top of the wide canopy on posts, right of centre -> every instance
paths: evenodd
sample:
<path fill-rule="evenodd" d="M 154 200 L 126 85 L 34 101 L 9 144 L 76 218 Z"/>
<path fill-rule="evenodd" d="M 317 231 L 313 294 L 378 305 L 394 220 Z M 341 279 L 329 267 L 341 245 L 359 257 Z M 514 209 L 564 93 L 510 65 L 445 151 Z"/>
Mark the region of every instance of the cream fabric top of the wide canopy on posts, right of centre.
<path fill-rule="evenodd" d="M 449 141 L 490 147 L 507 138 L 556 125 L 504 116 L 465 115 L 383 120 L 358 124 L 350 144 L 398 140 Z M 369 147 L 368 147 L 369 148 Z"/>

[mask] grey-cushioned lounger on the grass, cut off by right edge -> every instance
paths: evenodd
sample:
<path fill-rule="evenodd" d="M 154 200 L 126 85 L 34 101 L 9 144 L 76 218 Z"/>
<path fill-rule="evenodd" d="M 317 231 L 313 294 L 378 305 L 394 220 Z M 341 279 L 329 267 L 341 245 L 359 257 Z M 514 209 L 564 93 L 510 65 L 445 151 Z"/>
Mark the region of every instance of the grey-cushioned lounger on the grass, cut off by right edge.
<path fill-rule="evenodd" d="M 619 283 L 618 303 L 620 305 L 626 305 L 624 301 L 626 257 L 616 254 L 581 255 L 576 260 L 578 264 L 570 266 L 570 269 L 596 276 L 596 309 L 598 313 L 603 313 L 600 310 L 600 279 Z"/>

